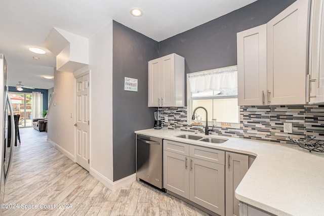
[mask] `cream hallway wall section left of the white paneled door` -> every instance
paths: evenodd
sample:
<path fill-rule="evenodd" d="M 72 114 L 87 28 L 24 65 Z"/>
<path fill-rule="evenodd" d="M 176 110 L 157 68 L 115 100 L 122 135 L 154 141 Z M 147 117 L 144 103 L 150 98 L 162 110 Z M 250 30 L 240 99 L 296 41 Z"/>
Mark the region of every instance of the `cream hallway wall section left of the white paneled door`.
<path fill-rule="evenodd" d="M 74 76 L 54 71 L 55 96 L 48 115 L 48 140 L 70 159 L 74 159 Z"/>

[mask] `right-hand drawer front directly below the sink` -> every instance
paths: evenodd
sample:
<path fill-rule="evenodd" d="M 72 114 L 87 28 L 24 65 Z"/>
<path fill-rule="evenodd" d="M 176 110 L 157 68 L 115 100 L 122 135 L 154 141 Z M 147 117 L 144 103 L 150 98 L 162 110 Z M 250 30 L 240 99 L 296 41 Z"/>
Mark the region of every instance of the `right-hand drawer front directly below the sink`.
<path fill-rule="evenodd" d="M 201 146 L 190 146 L 190 157 L 225 165 L 225 151 Z"/>

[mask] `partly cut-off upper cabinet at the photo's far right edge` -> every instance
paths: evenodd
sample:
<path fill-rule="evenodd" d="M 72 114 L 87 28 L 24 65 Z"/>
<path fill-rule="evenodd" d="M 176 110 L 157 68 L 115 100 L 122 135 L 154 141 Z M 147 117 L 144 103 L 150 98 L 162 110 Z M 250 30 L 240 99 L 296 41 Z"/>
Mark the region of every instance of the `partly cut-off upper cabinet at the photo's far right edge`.
<path fill-rule="evenodd" d="M 324 1 L 313 0 L 309 29 L 307 102 L 324 102 Z"/>

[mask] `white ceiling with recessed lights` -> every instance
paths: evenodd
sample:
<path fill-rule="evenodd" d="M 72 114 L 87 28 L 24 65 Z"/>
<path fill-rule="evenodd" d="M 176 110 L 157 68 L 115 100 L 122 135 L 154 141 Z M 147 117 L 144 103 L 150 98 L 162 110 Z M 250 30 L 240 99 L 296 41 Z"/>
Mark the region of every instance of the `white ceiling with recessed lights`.
<path fill-rule="evenodd" d="M 1 1 L 0 53 L 6 56 L 9 85 L 18 81 L 38 89 L 50 89 L 55 56 L 43 46 L 53 27 L 91 37 L 111 19 L 154 40 L 161 41 L 216 19 L 256 0 L 6 0 Z M 140 8 L 142 17 L 130 15 Z M 38 55 L 28 47 L 43 48 Z M 38 61 L 33 56 L 39 57 Z"/>

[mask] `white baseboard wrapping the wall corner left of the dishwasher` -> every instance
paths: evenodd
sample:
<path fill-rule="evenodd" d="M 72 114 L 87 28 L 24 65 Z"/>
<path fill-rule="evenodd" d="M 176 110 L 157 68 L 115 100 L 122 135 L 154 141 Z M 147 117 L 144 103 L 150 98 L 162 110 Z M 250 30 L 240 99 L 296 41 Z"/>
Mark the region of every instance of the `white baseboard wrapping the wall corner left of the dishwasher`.
<path fill-rule="evenodd" d="M 90 167 L 90 175 L 98 179 L 102 184 L 104 184 L 107 188 L 109 188 L 112 191 L 117 190 L 120 187 L 123 187 L 125 185 L 131 184 L 132 182 L 136 181 L 136 173 L 135 173 L 133 175 L 130 175 L 118 181 L 112 182 L 111 180 L 107 179 L 106 177 L 101 175 L 97 170 L 91 167 Z"/>

